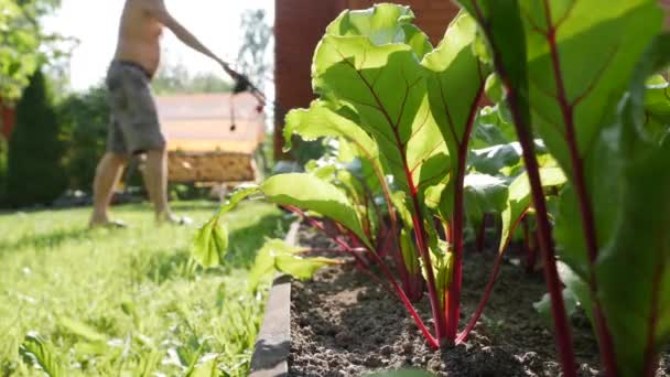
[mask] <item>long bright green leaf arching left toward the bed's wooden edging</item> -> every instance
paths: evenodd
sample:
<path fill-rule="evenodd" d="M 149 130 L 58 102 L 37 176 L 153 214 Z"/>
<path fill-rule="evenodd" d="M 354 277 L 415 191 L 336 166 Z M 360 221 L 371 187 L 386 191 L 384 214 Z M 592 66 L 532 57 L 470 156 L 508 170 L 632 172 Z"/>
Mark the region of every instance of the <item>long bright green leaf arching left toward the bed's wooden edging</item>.
<path fill-rule="evenodd" d="M 332 183 L 311 174 L 279 174 L 263 182 L 261 191 L 272 203 L 296 206 L 328 217 L 371 246 L 349 198 Z"/>

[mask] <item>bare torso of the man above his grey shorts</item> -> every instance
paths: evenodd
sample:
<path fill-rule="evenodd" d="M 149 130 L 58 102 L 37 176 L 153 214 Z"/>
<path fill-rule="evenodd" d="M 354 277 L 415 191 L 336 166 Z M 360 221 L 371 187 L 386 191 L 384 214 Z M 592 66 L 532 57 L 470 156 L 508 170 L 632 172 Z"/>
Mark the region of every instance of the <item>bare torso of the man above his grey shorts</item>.
<path fill-rule="evenodd" d="M 142 0 L 127 0 L 119 26 L 115 60 L 130 61 L 151 75 L 161 60 L 160 36 L 163 25 L 141 7 Z"/>

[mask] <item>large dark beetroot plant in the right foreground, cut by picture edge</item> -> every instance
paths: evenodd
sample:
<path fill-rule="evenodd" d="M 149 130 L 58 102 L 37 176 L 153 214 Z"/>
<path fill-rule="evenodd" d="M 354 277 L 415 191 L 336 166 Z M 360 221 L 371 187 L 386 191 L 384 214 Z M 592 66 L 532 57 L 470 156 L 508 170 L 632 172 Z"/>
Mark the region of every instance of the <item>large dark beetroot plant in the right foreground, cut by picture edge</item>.
<path fill-rule="evenodd" d="M 515 0 L 462 4 L 488 41 L 525 150 L 565 375 L 575 375 L 575 362 L 531 125 L 568 177 L 555 241 L 570 272 L 564 283 L 593 321 L 603 367 L 609 376 L 653 375 L 660 346 L 670 336 L 670 174 L 660 168 L 669 161 L 670 144 L 650 137 L 649 117 L 644 116 L 645 80 L 668 63 L 670 51 L 667 36 L 653 40 L 661 24 L 658 6 Z M 649 212 L 648 204 L 658 211 Z"/>

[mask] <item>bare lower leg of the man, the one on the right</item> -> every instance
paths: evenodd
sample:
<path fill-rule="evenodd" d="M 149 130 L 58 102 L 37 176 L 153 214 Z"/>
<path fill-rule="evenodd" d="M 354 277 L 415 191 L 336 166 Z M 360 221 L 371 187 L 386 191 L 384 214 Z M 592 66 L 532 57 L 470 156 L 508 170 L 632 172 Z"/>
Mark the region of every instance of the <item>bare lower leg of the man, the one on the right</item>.
<path fill-rule="evenodd" d="M 147 152 L 143 176 L 156 220 L 175 220 L 168 204 L 168 151 L 165 149 Z"/>

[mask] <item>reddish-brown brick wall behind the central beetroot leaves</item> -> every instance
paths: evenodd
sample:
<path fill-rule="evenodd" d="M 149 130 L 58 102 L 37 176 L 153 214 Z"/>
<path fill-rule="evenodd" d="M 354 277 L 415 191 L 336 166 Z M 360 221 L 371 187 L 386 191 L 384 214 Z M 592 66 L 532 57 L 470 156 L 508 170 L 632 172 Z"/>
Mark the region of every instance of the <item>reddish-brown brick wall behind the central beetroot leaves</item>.
<path fill-rule="evenodd" d="M 314 98 L 311 85 L 312 55 L 326 25 L 344 9 L 365 9 L 375 2 L 369 0 L 275 0 L 275 87 L 277 108 L 274 121 L 274 157 L 287 159 L 282 153 L 283 118 L 292 108 L 306 107 Z M 437 44 L 446 26 L 458 12 L 449 0 L 390 1 L 410 6 L 417 15 L 417 24 Z"/>

